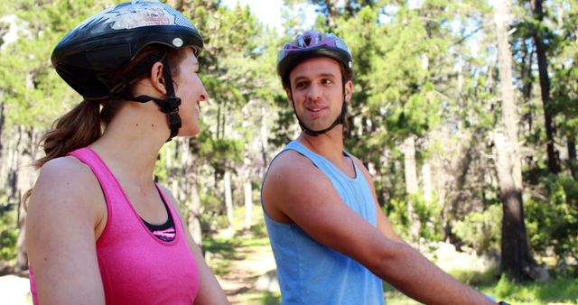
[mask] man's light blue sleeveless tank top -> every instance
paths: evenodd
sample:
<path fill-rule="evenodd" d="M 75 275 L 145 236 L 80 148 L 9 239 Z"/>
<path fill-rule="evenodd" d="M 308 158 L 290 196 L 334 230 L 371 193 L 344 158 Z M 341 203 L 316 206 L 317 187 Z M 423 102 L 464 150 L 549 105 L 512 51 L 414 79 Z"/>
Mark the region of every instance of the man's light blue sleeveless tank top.
<path fill-rule="evenodd" d="M 291 142 L 279 154 L 287 150 L 309 158 L 331 180 L 341 199 L 377 226 L 375 201 L 368 181 L 349 153 L 344 152 L 354 164 L 355 178 L 348 177 L 301 143 Z M 264 214 L 284 305 L 384 304 L 382 281 L 362 264 L 316 242 L 299 226 L 277 222 L 265 211 Z"/>

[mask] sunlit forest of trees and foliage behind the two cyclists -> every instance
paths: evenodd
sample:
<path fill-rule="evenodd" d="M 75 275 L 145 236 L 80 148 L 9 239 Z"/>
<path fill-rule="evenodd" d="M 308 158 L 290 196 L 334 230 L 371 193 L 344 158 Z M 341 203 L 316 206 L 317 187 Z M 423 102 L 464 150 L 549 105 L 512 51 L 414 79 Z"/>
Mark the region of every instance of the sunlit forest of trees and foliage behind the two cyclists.
<path fill-rule="evenodd" d="M 204 35 L 210 101 L 198 136 L 164 145 L 155 178 L 205 250 L 219 249 L 223 230 L 266 238 L 260 182 L 299 133 L 275 60 L 314 8 L 312 27 L 353 53 L 346 149 L 373 175 L 396 231 L 425 252 L 452 245 L 497 262 L 491 285 L 554 282 L 552 300 L 578 302 L 576 0 L 284 0 L 281 32 L 248 7 L 166 2 Z M 52 48 L 113 4 L 0 3 L 3 273 L 27 268 L 20 199 L 37 176 L 40 137 L 80 101 L 51 68 Z"/>

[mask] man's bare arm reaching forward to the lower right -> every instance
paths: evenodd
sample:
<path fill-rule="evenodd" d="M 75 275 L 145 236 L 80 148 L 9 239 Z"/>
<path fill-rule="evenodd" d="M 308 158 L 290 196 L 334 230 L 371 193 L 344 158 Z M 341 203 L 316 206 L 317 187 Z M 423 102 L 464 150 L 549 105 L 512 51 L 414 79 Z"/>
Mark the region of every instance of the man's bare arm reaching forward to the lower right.
<path fill-rule="evenodd" d="M 491 304 L 480 292 L 456 281 L 411 246 L 371 226 L 340 199 L 322 171 L 297 152 L 284 152 L 276 158 L 263 188 L 267 213 L 283 213 L 322 245 L 362 263 L 415 300 L 427 304 Z"/>

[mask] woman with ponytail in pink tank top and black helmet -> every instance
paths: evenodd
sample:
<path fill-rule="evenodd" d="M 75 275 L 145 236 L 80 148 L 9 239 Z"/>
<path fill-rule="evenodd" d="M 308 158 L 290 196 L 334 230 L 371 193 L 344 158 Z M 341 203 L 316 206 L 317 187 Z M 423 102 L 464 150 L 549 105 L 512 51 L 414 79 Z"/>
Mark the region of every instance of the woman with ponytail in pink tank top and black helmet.
<path fill-rule="evenodd" d="M 172 194 L 154 183 L 163 143 L 199 132 L 202 46 L 170 6 L 133 1 L 93 15 L 52 52 L 84 100 L 42 139 L 26 224 L 35 304 L 228 303 Z"/>

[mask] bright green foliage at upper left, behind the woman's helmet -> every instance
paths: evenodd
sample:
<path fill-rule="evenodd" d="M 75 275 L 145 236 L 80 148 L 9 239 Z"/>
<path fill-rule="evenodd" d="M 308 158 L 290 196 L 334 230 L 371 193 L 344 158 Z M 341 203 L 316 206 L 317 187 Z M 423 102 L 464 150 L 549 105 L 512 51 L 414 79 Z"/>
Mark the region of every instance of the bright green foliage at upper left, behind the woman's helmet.
<path fill-rule="evenodd" d="M 103 8 L 95 1 L 19 1 L 19 36 L 0 56 L 0 90 L 8 125 L 49 125 L 79 96 L 51 67 L 51 51 L 66 32 Z"/>

